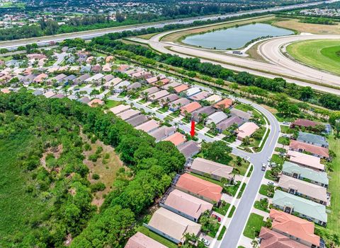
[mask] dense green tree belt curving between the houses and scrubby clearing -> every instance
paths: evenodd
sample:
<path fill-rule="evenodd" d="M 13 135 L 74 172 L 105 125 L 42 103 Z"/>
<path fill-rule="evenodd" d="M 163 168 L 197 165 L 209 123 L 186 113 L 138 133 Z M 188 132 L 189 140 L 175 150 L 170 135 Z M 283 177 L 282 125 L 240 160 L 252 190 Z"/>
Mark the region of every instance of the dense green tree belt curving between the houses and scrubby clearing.
<path fill-rule="evenodd" d="M 94 134 L 104 143 L 115 147 L 133 174 L 131 177 L 124 170 L 120 171 L 113 191 L 108 194 L 101 208 L 101 213 L 96 214 L 89 223 L 87 220 L 94 214 L 89 205 L 91 195 L 79 195 L 80 203 L 84 202 L 85 205 L 74 206 L 74 196 L 71 197 L 67 190 L 62 190 L 62 202 L 66 203 L 64 207 L 60 206 L 60 213 L 55 214 L 65 218 L 60 221 L 63 228 L 57 230 L 51 228 L 45 232 L 35 233 L 35 236 L 29 237 L 30 242 L 26 243 L 28 247 L 33 247 L 34 242 L 39 244 L 39 247 L 45 247 L 44 245 L 60 247 L 68 234 L 75 237 L 71 247 L 123 247 L 134 232 L 136 219 L 155 198 L 162 196 L 169 187 L 174 173 L 181 170 L 185 163 L 185 158 L 172 143 L 155 143 L 154 138 L 134 129 L 112 113 L 104 114 L 100 109 L 76 101 L 48 100 L 28 93 L 1 94 L 1 112 L 11 112 L 28 119 L 38 118 L 39 121 L 34 122 L 31 129 L 37 129 L 41 134 L 44 134 L 45 130 L 40 129 L 37 124 L 50 126 L 51 130 L 55 129 L 54 132 L 70 129 L 71 126 L 64 127 L 70 125 L 68 124 L 70 121 L 72 124 L 80 125 L 85 133 Z M 51 122 L 45 122 L 45 115 L 50 117 Z M 65 135 L 69 133 L 66 132 Z M 77 132 L 72 137 L 79 139 Z M 81 144 L 80 141 L 77 143 Z M 86 187 L 82 194 L 88 194 L 89 182 L 85 179 L 88 169 L 82 164 L 82 155 L 79 153 L 74 155 L 77 160 L 64 160 L 64 177 L 74 173 L 79 175 L 79 182 L 71 180 L 72 185 L 81 192 L 81 184 L 84 184 Z M 74 175 L 72 178 L 77 177 Z M 79 211 L 84 215 L 79 214 Z M 84 229 L 85 223 L 87 226 Z"/>

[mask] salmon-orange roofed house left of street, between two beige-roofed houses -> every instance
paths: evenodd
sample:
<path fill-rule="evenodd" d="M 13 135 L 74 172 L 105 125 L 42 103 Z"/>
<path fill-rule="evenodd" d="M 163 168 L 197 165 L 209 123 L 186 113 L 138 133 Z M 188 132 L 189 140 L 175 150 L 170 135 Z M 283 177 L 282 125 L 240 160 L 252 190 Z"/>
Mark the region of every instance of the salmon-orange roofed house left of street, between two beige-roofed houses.
<path fill-rule="evenodd" d="M 210 203 L 218 204 L 222 197 L 222 187 L 220 185 L 213 184 L 188 173 L 181 175 L 174 187 Z"/>

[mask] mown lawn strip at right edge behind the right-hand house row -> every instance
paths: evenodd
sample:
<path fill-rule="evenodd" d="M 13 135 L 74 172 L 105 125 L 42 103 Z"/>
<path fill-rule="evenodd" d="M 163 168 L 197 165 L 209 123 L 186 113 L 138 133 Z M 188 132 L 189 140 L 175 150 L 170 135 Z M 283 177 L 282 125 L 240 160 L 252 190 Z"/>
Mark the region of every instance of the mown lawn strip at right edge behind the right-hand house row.
<path fill-rule="evenodd" d="M 327 229 L 340 233 L 340 140 L 330 136 L 329 149 L 333 150 L 336 158 L 333 159 L 333 172 L 329 172 L 329 191 L 331 192 L 331 213 L 328 214 Z"/>

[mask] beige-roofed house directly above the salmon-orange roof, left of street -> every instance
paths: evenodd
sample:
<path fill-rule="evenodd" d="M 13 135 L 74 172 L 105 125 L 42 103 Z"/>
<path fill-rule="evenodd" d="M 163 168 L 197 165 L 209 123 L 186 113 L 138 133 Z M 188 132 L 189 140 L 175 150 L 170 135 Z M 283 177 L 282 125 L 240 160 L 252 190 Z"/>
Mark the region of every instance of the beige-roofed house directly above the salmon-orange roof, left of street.
<path fill-rule="evenodd" d="M 190 166 L 190 171 L 198 175 L 210 175 L 212 179 L 221 181 L 222 178 L 232 180 L 233 167 L 206 160 L 195 158 Z"/>

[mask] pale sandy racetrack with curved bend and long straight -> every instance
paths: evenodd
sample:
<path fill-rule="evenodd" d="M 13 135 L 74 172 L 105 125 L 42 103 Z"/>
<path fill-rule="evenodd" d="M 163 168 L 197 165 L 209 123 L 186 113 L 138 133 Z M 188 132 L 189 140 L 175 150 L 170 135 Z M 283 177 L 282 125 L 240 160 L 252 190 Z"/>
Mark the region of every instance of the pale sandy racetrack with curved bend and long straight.
<path fill-rule="evenodd" d="M 246 57 L 217 53 L 209 49 L 188 47 L 174 42 L 160 41 L 164 35 L 174 32 L 178 32 L 178 30 L 171 30 L 154 35 L 149 40 L 139 38 L 132 38 L 131 40 L 147 43 L 153 49 L 162 53 L 174 54 L 180 57 L 199 57 L 202 61 L 210 62 L 212 64 L 220 64 L 221 66 L 234 71 L 247 71 L 254 75 L 264 76 L 267 78 L 283 77 L 289 83 L 296 83 L 303 86 L 308 85 L 316 90 L 340 95 L 340 90 L 327 87 L 327 85 L 340 87 L 340 76 L 298 64 L 296 61 L 288 59 L 280 53 L 280 47 L 290 42 L 314 39 L 340 40 L 340 35 L 293 35 L 269 39 L 259 46 L 259 52 L 261 52 L 261 55 L 268 61 L 266 63 Z M 317 84 L 307 83 L 306 81 L 312 81 Z"/>

